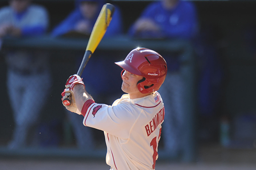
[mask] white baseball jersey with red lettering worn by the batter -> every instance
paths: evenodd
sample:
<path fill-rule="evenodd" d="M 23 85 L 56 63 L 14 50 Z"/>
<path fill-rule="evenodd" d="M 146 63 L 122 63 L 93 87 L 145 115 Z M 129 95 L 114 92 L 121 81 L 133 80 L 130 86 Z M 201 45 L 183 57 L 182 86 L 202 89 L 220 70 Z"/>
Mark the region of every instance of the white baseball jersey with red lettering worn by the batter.
<path fill-rule="evenodd" d="M 91 103 L 82 114 L 85 126 L 104 131 L 106 162 L 113 170 L 154 170 L 164 119 L 158 92 L 138 99 L 124 94 L 112 106 Z"/>

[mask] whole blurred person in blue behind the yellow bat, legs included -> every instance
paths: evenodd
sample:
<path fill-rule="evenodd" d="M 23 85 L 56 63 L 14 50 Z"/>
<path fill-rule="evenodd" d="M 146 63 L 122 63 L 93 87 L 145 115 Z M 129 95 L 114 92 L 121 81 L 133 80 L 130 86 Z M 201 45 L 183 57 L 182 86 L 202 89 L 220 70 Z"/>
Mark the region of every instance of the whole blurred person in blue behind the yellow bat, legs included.
<path fill-rule="evenodd" d="M 67 36 L 71 33 L 70 35 L 68 35 L 69 37 L 72 37 L 72 35 L 75 37 L 80 36 L 81 38 L 86 36 L 89 37 L 104 4 L 105 0 L 76 0 L 76 8 L 67 16 L 65 20 L 63 20 L 58 26 L 53 29 L 52 36 Z M 111 23 L 104 37 L 114 37 L 123 33 L 121 11 L 119 10 L 118 6 L 115 7 L 116 8 L 113 13 Z M 115 86 L 106 84 L 106 82 L 108 82 L 107 80 L 109 79 L 108 74 L 102 74 L 103 72 L 115 72 L 111 70 L 115 68 L 109 68 L 108 66 L 108 63 L 113 63 L 113 56 L 107 57 L 106 55 L 107 54 L 100 53 L 93 54 L 93 57 L 88 62 L 83 71 L 83 74 L 81 75 L 83 79 L 86 79 L 87 82 L 90 82 L 90 84 L 86 85 L 86 88 L 89 88 L 91 91 L 91 95 L 98 100 L 102 100 L 102 98 L 104 98 L 102 94 L 109 94 L 114 90 L 116 91 Z M 77 59 L 77 70 L 80 66 L 82 57 L 83 56 L 80 56 Z M 93 72 L 93 74 L 88 74 L 91 72 Z M 102 85 L 104 85 L 104 87 L 102 87 Z M 68 118 L 74 129 L 77 146 L 85 150 L 94 149 L 95 141 L 93 140 L 92 129 L 84 128 L 84 125 L 81 124 L 83 117 L 70 111 L 67 112 Z"/>

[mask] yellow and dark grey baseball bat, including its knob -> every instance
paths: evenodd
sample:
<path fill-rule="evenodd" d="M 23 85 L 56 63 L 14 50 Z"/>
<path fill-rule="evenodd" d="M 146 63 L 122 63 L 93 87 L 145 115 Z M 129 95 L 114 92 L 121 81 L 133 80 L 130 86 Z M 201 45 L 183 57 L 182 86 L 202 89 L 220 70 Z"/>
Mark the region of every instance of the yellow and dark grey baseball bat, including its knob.
<path fill-rule="evenodd" d="M 93 31 L 90 34 L 90 38 L 89 38 L 81 65 L 77 71 L 77 75 L 79 75 L 80 77 L 91 55 L 94 53 L 97 46 L 99 45 L 99 42 L 102 40 L 103 36 L 105 35 L 105 32 L 107 31 L 107 28 L 109 26 L 109 23 L 112 20 L 114 11 L 115 11 L 115 6 L 113 6 L 110 3 L 106 3 L 104 6 L 102 6 L 99 16 L 96 20 L 96 23 L 93 26 Z M 71 104 L 70 97 L 64 99 L 63 103 L 64 105 L 67 105 L 67 106 L 70 105 Z"/>

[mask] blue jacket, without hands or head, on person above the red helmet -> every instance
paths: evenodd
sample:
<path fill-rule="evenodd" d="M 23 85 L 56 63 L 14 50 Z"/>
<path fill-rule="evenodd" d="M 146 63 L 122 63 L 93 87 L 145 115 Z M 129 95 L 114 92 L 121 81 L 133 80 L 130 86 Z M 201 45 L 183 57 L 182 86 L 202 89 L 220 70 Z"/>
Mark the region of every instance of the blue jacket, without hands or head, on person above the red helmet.
<path fill-rule="evenodd" d="M 164 37 L 191 39 L 198 29 L 198 19 L 193 3 L 180 0 L 176 8 L 166 10 L 162 2 L 149 4 L 140 18 L 149 18 L 157 23 L 161 31 L 158 33 L 139 32 L 136 33 L 134 25 L 131 26 L 128 34 L 137 37 Z"/>

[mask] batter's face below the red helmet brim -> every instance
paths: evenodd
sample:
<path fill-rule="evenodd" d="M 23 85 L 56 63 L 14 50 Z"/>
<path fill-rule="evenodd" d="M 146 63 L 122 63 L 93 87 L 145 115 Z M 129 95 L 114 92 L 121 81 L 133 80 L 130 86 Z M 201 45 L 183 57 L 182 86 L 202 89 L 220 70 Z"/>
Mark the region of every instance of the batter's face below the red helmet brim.
<path fill-rule="evenodd" d="M 128 93 L 130 95 L 130 99 L 139 98 L 142 93 L 140 93 L 137 88 L 137 82 L 143 79 L 143 77 L 125 71 L 122 75 L 122 79 L 122 91 Z"/>

